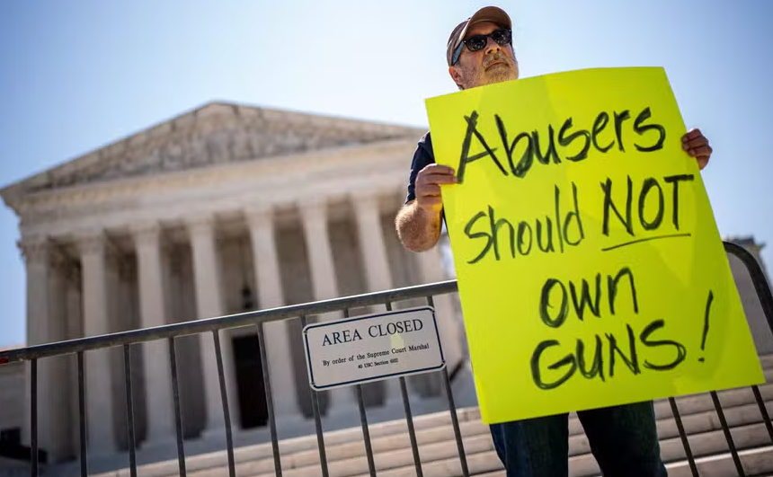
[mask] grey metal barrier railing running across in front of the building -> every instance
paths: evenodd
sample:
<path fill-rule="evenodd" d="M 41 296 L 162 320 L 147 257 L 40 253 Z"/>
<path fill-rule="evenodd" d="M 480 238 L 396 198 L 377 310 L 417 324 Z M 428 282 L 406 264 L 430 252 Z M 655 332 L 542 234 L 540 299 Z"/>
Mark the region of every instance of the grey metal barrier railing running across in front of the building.
<path fill-rule="evenodd" d="M 760 264 L 754 259 L 750 252 L 747 252 L 741 246 L 734 243 L 724 243 L 725 251 L 729 254 L 737 257 L 745 265 L 746 269 L 751 274 L 751 281 L 755 287 L 757 295 L 760 298 L 760 305 L 763 313 L 769 323 L 771 332 L 773 332 L 773 294 L 771 294 L 770 287 L 764 272 L 760 268 Z M 84 353 L 92 351 L 94 349 L 106 349 L 113 347 L 122 347 L 124 358 L 124 380 L 126 384 L 126 413 L 127 413 L 127 433 L 129 444 L 129 474 L 131 477 L 137 476 L 137 449 L 135 440 L 135 410 L 132 399 L 132 375 L 131 375 L 131 359 L 130 349 L 132 345 L 138 343 L 153 341 L 153 340 L 167 340 L 169 349 L 169 364 L 171 368 L 171 381 L 173 387 L 173 413 L 174 424 L 177 444 L 177 460 L 178 460 L 178 472 L 179 475 L 184 477 L 186 475 L 185 467 L 185 443 L 183 439 L 182 430 L 182 411 L 180 402 L 180 390 L 179 390 L 179 376 L 178 376 L 178 363 L 175 352 L 176 340 L 182 336 L 200 333 L 211 333 L 212 339 L 215 343 L 215 358 L 218 365 L 218 378 L 219 378 L 219 390 L 223 407 L 223 418 L 225 420 L 226 428 L 226 441 L 227 441 L 227 467 L 230 477 L 235 477 L 235 457 L 234 457 L 234 442 L 231 430 L 231 414 L 228 409 L 227 399 L 227 384 L 224 375 L 223 356 L 220 347 L 219 333 L 222 330 L 230 328 L 240 328 L 244 326 L 254 326 L 257 329 L 258 336 L 258 348 L 260 349 L 261 362 L 262 362 L 262 375 L 263 384 L 265 387 L 266 404 L 268 412 L 268 425 L 271 433 L 271 447 L 274 463 L 274 472 L 277 477 L 282 475 L 282 464 L 280 460 L 280 447 L 279 439 L 277 435 L 277 423 L 273 406 L 273 396 L 271 391 L 271 378 L 270 369 L 268 365 L 268 359 L 265 350 L 265 336 L 263 331 L 263 324 L 267 322 L 276 322 L 287 319 L 299 319 L 301 324 L 305 326 L 307 324 L 307 316 L 325 314 L 331 312 L 342 312 L 344 316 L 350 314 L 350 310 L 359 307 L 386 305 L 387 310 L 392 309 L 392 305 L 396 302 L 411 299 L 424 299 L 427 305 L 433 306 L 433 296 L 439 296 L 444 294 L 455 293 L 458 291 L 457 281 L 449 280 L 439 283 L 422 285 L 417 287 L 404 287 L 393 290 L 388 290 L 378 293 L 369 293 L 359 296 L 349 296 L 342 298 L 335 298 L 331 300 L 324 300 L 315 303 L 302 304 L 302 305 L 289 305 L 280 308 L 273 308 L 267 310 L 253 311 L 242 314 L 234 314 L 228 316 L 222 316 L 217 318 L 202 319 L 193 322 L 182 322 L 176 324 L 169 324 L 161 327 L 146 328 L 135 331 L 122 331 L 111 333 L 108 335 L 94 336 L 89 338 L 83 338 L 78 340 L 67 340 L 55 343 L 41 344 L 36 346 L 30 346 L 23 349 L 11 349 L 0 352 L 0 365 L 28 361 L 30 363 L 31 381 L 30 381 L 30 399 L 31 399 L 31 414 L 30 414 L 30 428 L 31 428 L 31 455 L 39 455 L 39 442 L 38 442 L 38 362 L 41 358 L 49 358 L 54 356 L 76 354 L 77 357 L 77 386 L 78 386 L 78 425 L 80 430 L 80 448 L 79 448 L 79 461 L 80 461 L 80 473 L 82 476 L 86 476 L 89 473 L 88 468 L 88 438 L 86 428 L 86 401 L 85 401 L 85 389 L 84 389 Z M 454 431 L 454 438 L 457 444 L 458 461 L 460 464 L 461 475 L 468 477 L 469 470 L 466 462 L 466 452 L 464 442 L 462 440 L 462 433 L 459 427 L 457 409 L 454 402 L 454 396 L 451 391 L 451 382 L 449 379 L 449 371 L 447 368 L 443 368 L 438 373 L 441 375 L 441 381 L 443 384 L 445 397 L 448 401 L 449 414 L 451 418 L 451 424 Z M 413 451 L 413 464 L 415 466 L 415 473 L 418 477 L 422 477 L 422 460 L 419 453 L 419 446 L 417 443 L 416 432 L 413 425 L 413 413 L 411 409 L 411 402 L 409 399 L 407 384 L 404 377 L 399 377 L 400 391 L 402 394 L 402 400 L 404 405 L 405 420 L 407 423 L 408 435 L 410 438 L 411 448 Z M 768 430 L 771 443 L 773 443 L 773 424 L 769 417 L 769 413 L 766 409 L 765 402 L 760 393 L 758 386 L 751 386 L 751 390 L 754 393 L 755 401 L 760 408 L 760 414 Z M 366 457 L 368 460 L 369 475 L 371 477 L 376 476 L 376 465 L 374 462 L 373 446 L 371 444 L 371 438 L 369 434 L 368 413 L 366 405 L 363 400 L 363 393 L 360 384 L 355 386 L 355 393 L 360 411 L 360 426 L 362 430 L 362 437 L 364 439 L 364 445 L 366 450 Z M 733 441 L 731 429 L 728 426 L 727 420 L 724 416 L 722 404 L 715 392 L 710 393 L 712 401 L 714 403 L 715 411 L 720 420 L 722 430 L 724 431 L 724 437 L 727 441 L 728 448 L 733 457 L 733 463 L 738 472 L 738 475 L 745 476 L 741 458 L 738 450 Z M 688 434 L 685 431 L 680 411 L 677 402 L 674 398 L 669 398 L 671 404 L 671 411 L 673 418 L 676 422 L 682 445 L 684 446 L 685 455 L 687 456 L 690 471 L 695 477 L 699 477 L 697 470 L 697 464 L 694 455 L 690 449 Z M 324 429 L 322 426 L 322 416 L 320 413 L 320 406 L 318 402 L 318 395 L 311 390 L 311 404 L 314 414 L 315 431 L 317 438 L 317 447 L 319 452 L 320 461 L 320 473 L 323 477 L 329 477 L 327 457 L 325 454 L 324 445 Z M 31 458 L 31 475 L 37 477 L 39 475 L 39 462 L 37 458 Z"/>

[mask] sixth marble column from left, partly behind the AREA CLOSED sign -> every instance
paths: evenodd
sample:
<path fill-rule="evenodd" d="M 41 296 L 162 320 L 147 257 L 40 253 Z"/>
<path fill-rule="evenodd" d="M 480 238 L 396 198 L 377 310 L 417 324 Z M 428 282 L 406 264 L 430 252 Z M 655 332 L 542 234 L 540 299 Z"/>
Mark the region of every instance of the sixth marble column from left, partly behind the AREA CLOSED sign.
<path fill-rule="evenodd" d="M 315 301 L 339 296 L 338 279 L 333 264 L 333 248 L 327 229 L 327 204 L 324 199 L 298 204 L 311 269 L 311 283 Z M 340 313 L 324 314 L 320 321 L 340 318 Z M 356 410 L 354 393 L 351 388 L 336 388 L 330 391 L 331 405 L 328 414 L 345 415 Z"/>

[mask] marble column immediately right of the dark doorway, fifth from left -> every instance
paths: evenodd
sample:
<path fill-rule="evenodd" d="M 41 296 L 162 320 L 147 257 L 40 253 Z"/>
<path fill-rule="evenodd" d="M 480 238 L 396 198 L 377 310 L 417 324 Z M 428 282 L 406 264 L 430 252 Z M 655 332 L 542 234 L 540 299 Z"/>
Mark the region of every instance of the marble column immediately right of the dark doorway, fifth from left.
<path fill-rule="evenodd" d="M 244 216 L 253 243 L 258 304 L 263 310 L 282 306 L 282 279 L 271 208 L 247 208 Z M 263 331 L 274 412 L 277 416 L 298 417 L 300 410 L 298 400 L 295 399 L 297 390 L 292 368 L 289 321 L 265 323 Z"/>

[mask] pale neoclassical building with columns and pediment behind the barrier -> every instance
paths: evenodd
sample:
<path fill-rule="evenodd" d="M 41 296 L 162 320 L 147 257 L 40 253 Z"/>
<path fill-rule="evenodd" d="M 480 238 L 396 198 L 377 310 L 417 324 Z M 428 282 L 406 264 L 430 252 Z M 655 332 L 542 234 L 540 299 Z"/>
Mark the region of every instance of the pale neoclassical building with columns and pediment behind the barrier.
<path fill-rule="evenodd" d="M 440 248 L 406 252 L 395 234 L 423 132 L 216 102 L 6 187 L 0 193 L 20 217 L 27 344 L 448 278 Z M 464 352 L 458 305 L 451 296 L 435 305 L 454 367 Z M 312 415 L 301 326 L 265 330 L 281 434 Z M 265 427 L 255 329 L 224 331 L 220 343 L 235 431 Z M 185 436 L 217 435 L 214 340 L 183 337 L 175 350 Z M 173 443 L 167 342 L 136 346 L 131 364 L 138 443 Z M 90 453 L 120 452 L 128 446 L 122 350 L 88 352 L 85 367 Z M 41 361 L 39 377 L 40 446 L 54 461 L 73 457 L 75 357 Z M 440 394 L 437 377 L 410 384 L 415 399 Z M 399 397 L 393 384 L 365 386 L 374 411 Z M 320 405 L 328 419 L 358 416 L 351 388 L 322 393 Z"/>

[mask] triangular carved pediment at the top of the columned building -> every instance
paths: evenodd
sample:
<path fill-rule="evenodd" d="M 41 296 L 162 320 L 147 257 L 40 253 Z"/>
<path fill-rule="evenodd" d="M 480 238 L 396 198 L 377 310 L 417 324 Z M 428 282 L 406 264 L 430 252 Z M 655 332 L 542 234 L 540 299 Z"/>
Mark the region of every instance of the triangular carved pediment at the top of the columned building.
<path fill-rule="evenodd" d="M 418 139 L 422 132 L 418 128 L 212 102 L 11 187 L 29 194 L 397 138 Z"/>

